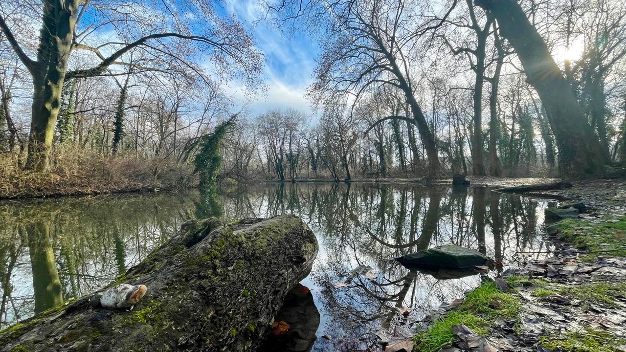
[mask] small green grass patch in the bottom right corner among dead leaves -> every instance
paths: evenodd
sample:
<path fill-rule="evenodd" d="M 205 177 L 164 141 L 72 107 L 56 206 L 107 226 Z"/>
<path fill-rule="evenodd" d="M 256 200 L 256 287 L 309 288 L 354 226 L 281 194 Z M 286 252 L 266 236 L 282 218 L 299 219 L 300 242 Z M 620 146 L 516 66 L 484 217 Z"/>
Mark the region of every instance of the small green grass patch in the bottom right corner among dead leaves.
<path fill-rule="evenodd" d="M 592 328 L 570 331 L 563 338 L 543 336 L 540 338 L 543 347 L 563 352 L 613 352 L 618 346 L 626 343 L 625 339 Z"/>

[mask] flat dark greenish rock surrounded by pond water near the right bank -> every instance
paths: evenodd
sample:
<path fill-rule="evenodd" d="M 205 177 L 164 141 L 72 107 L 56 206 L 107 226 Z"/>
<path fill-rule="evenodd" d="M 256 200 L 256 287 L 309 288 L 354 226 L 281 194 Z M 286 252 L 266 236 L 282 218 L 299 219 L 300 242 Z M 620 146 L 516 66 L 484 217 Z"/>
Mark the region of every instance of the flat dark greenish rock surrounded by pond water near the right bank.
<path fill-rule="evenodd" d="M 424 249 L 417 253 L 395 259 L 405 267 L 438 267 L 448 269 L 471 269 L 475 266 L 490 266 L 491 261 L 485 254 L 474 249 L 453 246 L 451 244 L 431 249 Z"/>

